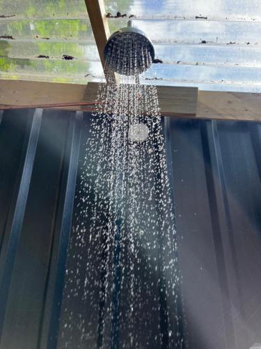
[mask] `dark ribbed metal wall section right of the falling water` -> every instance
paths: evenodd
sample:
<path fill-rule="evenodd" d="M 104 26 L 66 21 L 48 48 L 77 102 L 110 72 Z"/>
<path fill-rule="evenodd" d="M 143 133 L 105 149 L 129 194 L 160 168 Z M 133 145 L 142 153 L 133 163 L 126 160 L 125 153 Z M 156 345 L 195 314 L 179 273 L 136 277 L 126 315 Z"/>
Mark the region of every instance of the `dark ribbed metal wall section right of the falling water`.
<path fill-rule="evenodd" d="M 187 348 L 261 340 L 260 124 L 171 120 Z"/>

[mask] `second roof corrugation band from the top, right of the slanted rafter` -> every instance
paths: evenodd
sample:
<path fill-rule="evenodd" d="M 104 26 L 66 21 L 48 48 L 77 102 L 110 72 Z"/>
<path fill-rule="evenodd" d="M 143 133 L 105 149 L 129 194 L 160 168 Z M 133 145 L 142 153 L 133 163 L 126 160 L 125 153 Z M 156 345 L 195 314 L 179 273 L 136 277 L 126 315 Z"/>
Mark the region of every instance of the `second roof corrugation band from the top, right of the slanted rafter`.
<path fill-rule="evenodd" d="M 111 19 L 111 27 L 127 25 L 127 20 Z M 113 23 L 113 24 L 112 24 Z M 208 20 L 134 20 L 154 43 L 212 43 L 224 45 L 260 45 L 260 22 Z"/>

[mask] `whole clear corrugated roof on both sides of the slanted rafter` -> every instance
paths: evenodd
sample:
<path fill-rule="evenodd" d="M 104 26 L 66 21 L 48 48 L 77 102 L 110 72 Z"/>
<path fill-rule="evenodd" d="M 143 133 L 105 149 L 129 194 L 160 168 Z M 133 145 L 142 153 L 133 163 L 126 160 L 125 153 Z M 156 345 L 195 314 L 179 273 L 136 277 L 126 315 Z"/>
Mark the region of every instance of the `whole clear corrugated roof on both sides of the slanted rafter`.
<path fill-rule="evenodd" d="M 132 17 L 152 40 L 157 84 L 261 92 L 260 0 L 104 2 L 111 33 Z M 0 0 L 0 78 L 104 80 L 84 0 Z"/>

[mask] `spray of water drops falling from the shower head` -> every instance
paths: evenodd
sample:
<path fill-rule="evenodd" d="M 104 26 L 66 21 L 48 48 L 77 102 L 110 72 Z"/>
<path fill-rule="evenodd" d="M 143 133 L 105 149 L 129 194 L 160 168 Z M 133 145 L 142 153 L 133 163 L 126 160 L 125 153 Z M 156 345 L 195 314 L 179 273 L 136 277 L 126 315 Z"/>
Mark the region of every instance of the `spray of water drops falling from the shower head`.
<path fill-rule="evenodd" d="M 152 72 L 139 75 L 137 52 L 145 66 L 150 54 L 129 45 L 111 47 L 125 75 L 116 85 L 106 68 L 88 130 L 59 348 L 183 348 L 163 121 Z"/>

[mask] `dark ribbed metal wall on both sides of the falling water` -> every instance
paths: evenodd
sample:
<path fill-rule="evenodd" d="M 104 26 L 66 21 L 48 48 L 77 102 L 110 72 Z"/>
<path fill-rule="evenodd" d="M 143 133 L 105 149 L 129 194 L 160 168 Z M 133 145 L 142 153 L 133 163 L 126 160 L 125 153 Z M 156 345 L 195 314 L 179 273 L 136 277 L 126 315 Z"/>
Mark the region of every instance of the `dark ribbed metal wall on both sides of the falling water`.
<path fill-rule="evenodd" d="M 88 114 L 0 112 L 1 349 L 56 348 Z M 167 118 L 187 348 L 261 342 L 261 124 Z"/>

